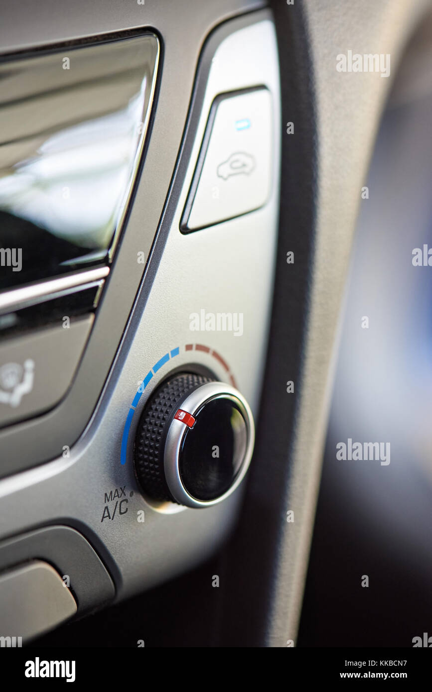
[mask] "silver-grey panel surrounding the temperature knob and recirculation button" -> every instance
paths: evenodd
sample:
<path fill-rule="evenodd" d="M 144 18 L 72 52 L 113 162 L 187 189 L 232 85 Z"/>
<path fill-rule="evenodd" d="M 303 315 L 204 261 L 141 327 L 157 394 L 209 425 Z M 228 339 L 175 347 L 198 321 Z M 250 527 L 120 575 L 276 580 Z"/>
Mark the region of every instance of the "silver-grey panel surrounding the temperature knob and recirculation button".
<path fill-rule="evenodd" d="M 221 381 L 234 381 L 256 417 L 264 376 L 280 166 L 278 58 L 269 12 L 233 19 L 216 30 L 206 42 L 197 84 L 193 100 L 198 110 L 162 221 L 167 234 L 163 253 L 150 261 L 150 292 L 138 295 L 98 408 L 70 456 L 0 481 L 0 538 L 44 524 L 76 527 L 111 572 L 118 599 L 213 552 L 242 495 L 240 486 L 222 504 L 201 510 L 145 502 L 134 476 L 132 445 L 147 397 L 172 369 L 197 363 Z M 181 234 L 181 213 L 213 99 L 258 84 L 273 98 L 275 153 L 267 203 L 231 221 Z M 120 257 L 122 252 L 123 246 Z M 241 313 L 242 334 L 190 331 L 190 314 L 201 309 Z"/>

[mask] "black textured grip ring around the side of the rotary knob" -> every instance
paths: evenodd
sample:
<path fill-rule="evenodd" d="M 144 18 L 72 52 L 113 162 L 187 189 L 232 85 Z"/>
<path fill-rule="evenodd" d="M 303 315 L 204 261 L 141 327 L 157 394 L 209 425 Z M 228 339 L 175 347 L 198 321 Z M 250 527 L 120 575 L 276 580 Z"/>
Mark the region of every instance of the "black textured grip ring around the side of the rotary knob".
<path fill-rule="evenodd" d="M 154 500 L 176 502 L 163 471 L 165 437 L 181 401 L 193 390 L 212 381 L 210 377 L 193 373 L 176 374 L 152 394 L 143 410 L 136 430 L 135 470 L 143 490 Z"/>

